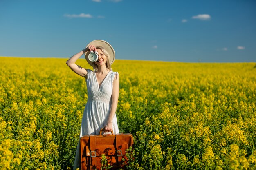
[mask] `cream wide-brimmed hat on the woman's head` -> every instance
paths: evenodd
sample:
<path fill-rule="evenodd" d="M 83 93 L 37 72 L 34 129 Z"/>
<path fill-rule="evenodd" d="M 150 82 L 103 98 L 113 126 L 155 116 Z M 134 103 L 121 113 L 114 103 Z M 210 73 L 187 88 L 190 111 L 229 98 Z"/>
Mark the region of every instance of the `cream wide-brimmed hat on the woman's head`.
<path fill-rule="evenodd" d="M 104 40 L 93 40 L 86 46 L 86 48 L 89 45 L 94 45 L 95 47 L 97 47 L 97 46 L 103 47 L 108 53 L 108 59 L 109 59 L 110 65 L 113 64 L 113 62 L 115 61 L 115 50 L 108 42 L 106 42 Z M 92 62 L 88 59 L 89 53 L 90 53 L 90 51 L 85 52 L 85 59 L 92 66 Z"/>

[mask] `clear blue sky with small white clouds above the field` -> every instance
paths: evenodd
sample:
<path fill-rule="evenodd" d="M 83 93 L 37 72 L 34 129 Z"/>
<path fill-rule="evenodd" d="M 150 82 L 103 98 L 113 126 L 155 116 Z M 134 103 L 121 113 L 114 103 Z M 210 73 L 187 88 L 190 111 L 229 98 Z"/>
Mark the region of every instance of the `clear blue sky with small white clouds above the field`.
<path fill-rule="evenodd" d="M 0 56 L 256 62 L 255 0 L 0 0 Z"/>

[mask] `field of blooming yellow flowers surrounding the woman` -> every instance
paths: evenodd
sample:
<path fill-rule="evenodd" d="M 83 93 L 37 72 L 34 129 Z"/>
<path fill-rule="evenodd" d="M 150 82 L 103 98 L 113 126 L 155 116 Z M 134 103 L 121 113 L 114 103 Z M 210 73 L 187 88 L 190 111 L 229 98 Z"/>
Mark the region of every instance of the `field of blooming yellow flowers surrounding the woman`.
<path fill-rule="evenodd" d="M 72 169 L 87 90 L 66 60 L 0 57 L 0 169 Z M 256 63 L 112 69 L 119 131 L 135 137 L 128 169 L 256 169 Z"/>

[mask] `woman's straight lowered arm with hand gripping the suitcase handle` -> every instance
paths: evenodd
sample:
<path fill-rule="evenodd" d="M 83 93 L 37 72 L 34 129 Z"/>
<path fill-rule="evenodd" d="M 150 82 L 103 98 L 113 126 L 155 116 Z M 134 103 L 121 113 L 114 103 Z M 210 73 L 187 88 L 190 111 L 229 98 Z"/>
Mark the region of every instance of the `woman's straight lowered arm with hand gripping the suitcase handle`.
<path fill-rule="evenodd" d="M 113 81 L 112 104 L 111 104 L 110 113 L 108 116 L 108 122 L 107 122 L 107 125 L 105 126 L 105 132 L 111 132 L 111 130 L 113 130 L 112 120 L 117 110 L 118 97 L 119 97 L 119 76 L 116 74 Z"/>

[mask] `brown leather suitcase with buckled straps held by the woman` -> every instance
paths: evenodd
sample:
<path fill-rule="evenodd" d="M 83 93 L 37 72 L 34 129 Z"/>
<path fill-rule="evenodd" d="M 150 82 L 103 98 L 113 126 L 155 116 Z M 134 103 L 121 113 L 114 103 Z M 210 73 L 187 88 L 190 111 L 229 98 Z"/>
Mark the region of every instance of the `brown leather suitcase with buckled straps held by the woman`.
<path fill-rule="evenodd" d="M 101 134 L 102 129 L 100 130 Z M 132 134 L 84 135 L 80 139 L 81 170 L 101 170 L 102 155 L 106 156 L 111 169 L 127 164 L 126 149 L 133 145 Z"/>

